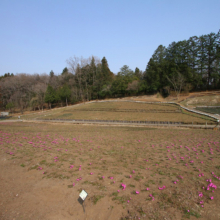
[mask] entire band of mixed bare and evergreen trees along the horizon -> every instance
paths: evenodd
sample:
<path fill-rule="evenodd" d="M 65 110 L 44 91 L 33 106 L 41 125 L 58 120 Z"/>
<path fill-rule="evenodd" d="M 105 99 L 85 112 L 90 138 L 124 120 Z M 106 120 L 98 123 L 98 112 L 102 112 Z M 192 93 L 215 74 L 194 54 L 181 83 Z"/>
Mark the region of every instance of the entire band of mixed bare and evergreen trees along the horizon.
<path fill-rule="evenodd" d="M 53 105 L 88 100 L 143 95 L 160 92 L 168 96 L 174 91 L 202 91 L 220 88 L 220 31 L 188 40 L 159 45 L 146 69 L 121 67 L 114 74 L 105 57 L 67 60 L 59 75 L 10 74 L 0 77 L 1 106 L 21 113 L 31 107 L 43 109 Z"/>

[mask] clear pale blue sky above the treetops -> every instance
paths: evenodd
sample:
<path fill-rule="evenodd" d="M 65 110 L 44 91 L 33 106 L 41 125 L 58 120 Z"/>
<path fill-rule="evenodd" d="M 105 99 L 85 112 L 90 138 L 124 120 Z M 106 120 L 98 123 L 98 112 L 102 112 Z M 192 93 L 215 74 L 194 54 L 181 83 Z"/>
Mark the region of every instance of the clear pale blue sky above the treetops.
<path fill-rule="evenodd" d="M 156 48 L 220 29 L 220 0 L 0 0 L 0 75 L 60 74 L 74 55 L 145 70 Z"/>

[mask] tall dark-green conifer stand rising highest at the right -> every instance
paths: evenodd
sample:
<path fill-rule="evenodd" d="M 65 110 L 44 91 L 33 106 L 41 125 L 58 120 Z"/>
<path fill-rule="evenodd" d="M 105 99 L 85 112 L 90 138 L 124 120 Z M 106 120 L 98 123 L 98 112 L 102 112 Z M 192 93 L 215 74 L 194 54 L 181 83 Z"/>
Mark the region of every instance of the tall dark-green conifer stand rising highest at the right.
<path fill-rule="evenodd" d="M 220 31 L 188 40 L 160 45 L 145 71 L 146 90 L 169 90 L 179 77 L 183 89 L 209 90 L 220 88 Z"/>

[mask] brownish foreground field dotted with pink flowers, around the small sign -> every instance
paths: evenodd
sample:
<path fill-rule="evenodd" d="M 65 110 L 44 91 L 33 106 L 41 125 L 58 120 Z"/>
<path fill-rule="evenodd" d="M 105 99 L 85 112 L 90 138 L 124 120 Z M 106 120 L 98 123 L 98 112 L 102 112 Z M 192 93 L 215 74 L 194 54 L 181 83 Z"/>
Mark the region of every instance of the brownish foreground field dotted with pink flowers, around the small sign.
<path fill-rule="evenodd" d="M 219 219 L 219 131 L 2 122 L 0 144 L 0 219 Z"/>

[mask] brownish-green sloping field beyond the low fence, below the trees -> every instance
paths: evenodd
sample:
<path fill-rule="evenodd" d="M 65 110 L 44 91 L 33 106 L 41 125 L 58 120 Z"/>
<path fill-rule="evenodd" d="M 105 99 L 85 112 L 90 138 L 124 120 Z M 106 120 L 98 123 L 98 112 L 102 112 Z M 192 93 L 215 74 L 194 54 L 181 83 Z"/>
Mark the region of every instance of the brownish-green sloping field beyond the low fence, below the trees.
<path fill-rule="evenodd" d="M 172 104 L 135 102 L 97 102 L 22 116 L 23 119 L 85 119 L 120 121 L 170 121 L 183 123 L 213 123 L 211 118 L 180 110 Z"/>

